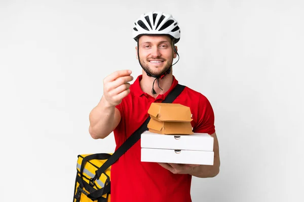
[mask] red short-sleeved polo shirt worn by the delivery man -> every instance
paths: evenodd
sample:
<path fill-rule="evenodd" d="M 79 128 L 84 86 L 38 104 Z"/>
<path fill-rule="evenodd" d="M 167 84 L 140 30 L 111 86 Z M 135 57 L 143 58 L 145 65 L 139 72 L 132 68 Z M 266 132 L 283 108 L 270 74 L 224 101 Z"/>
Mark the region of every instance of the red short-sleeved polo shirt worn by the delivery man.
<path fill-rule="evenodd" d="M 117 106 L 121 113 L 121 122 L 114 130 L 116 149 L 149 116 L 147 111 L 151 103 L 161 103 L 167 94 L 177 85 L 173 76 L 171 88 L 154 98 L 143 92 L 138 76 L 130 86 L 130 93 Z M 193 114 L 194 132 L 215 132 L 214 114 L 208 99 L 188 87 L 181 92 L 173 103 L 187 106 Z M 135 143 L 111 167 L 111 202 L 190 202 L 191 175 L 173 174 L 158 163 L 140 161 L 140 140 Z"/>

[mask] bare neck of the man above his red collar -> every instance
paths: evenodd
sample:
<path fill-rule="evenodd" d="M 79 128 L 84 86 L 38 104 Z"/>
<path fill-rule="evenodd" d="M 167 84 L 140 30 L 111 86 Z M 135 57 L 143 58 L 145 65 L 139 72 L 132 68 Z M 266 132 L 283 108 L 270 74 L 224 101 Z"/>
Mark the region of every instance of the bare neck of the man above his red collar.
<path fill-rule="evenodd" d="M 165 94 L 165 92 L 167 92 L 170 89 L 173 82 L 172 70 L 170 74 L 167 74 L 163 79 L 159 79 L 160 87 L 163 90 L 158 87 L 157 80 L 155 81 L 154 90 L 156 91 L 156 94 L 152 94 L 151 92 L 152 84 L 154 80 L 155 80 L 154 77 L 149 77 L 144 71 L 142 71 L 142 79 L 140 80 L 140 87 L 142 91 L 148 93 L 153 97 L 157 97 L 159 94 Z"/>

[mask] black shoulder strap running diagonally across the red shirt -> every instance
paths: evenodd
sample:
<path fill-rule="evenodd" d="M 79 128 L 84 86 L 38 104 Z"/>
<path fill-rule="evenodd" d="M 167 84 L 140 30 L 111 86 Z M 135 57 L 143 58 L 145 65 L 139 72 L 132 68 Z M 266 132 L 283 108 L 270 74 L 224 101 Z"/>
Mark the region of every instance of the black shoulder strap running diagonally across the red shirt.
<path fill-rule="evenodd" d="M 166 96 L 163 103 L 172 103 L 175 98 L 183 91 L 185 86 L 177 84 L 174 89 Z M 101 174 L 109 168 L 113 163 L 115 163 L 126 151 L 131 148 L 141 136 L 141 133 L 147 130 L 147 125 L 150 121 L 150 116 L 145 120 L 145 122 L 112 154 L 112 156 L 104 162 L 104 164 L 95 172 L 95 179 L 99 179 Z M 82 171 L 81 171 L 82 172 Z"/>

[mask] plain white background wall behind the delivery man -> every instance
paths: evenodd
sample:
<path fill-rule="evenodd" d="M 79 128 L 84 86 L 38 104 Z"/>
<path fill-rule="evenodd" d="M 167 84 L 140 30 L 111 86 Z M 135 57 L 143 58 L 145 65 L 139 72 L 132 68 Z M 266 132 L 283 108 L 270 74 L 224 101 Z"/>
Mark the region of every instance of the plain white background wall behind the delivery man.
<path fill-rule="evenodd" d="M 193 201 L 304 201 L 302 1 L 0 1 L 1 201 L 72 201 L 77 155 L 111 152 L 89 113 L 113 71 L 141 74 L 140 14 L 179 21 L 179 83 L 215 113 L 220 174 Z"/>

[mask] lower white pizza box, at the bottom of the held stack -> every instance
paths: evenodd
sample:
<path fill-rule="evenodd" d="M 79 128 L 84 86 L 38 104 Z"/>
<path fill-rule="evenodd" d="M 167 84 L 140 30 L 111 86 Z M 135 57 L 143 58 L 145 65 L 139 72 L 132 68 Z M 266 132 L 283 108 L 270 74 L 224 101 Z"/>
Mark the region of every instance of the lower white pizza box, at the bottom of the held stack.
<path fill-rule="evenodd" d="M 141 148 L 142 162 L 213 165 L 213 151 Z"/>

